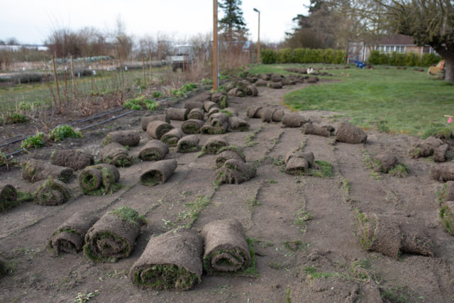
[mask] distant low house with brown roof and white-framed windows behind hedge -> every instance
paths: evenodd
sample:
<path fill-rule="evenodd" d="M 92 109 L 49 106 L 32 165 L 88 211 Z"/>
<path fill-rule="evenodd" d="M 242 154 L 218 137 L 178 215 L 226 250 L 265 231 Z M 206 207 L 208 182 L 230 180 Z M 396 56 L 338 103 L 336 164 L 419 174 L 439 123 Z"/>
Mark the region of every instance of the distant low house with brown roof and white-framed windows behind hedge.
<path fill-rule="evenodd" d="M 350 62 L 367 61 L 371 50 L 379 50 L 382 53 L 436 53 L 430 45 L 418 46 L 414 44 L 414 39 L 409 35 L 384 35 L 376 44 L 367 45 L 362 41 L 350 41 L 348 55 Z"/>

